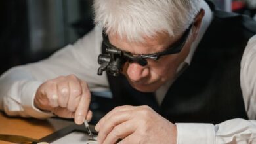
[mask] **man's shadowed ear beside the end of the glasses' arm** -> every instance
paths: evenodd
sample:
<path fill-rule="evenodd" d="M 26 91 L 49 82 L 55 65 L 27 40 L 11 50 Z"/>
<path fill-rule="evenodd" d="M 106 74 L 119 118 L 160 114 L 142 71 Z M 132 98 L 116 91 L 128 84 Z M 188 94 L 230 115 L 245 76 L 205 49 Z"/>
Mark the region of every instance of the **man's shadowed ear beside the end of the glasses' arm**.
<path fill-rule="evenodd" d="M 193 41 L 196 39 L 196 36 L 198 35 L 198 31 L 200 29 L 200 26 L 202 24 L 203 16 L 205 14 L 205 10 L 200 9 L 200 12 L 196 15 L 196 18 L 194 19 L 194 25 L 193 25 Z"/>

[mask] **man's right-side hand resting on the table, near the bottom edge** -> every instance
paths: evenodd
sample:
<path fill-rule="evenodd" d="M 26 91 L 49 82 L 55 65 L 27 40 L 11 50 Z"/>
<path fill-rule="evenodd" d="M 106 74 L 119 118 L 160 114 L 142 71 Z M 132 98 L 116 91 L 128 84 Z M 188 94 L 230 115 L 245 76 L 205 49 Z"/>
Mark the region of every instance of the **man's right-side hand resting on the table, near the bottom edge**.
<path fill-rule="evenodd" d="M 116 107 L 103 117 L 95 129 L 98 143 L 175 144 L 176 126 L 148 106 Z"/>

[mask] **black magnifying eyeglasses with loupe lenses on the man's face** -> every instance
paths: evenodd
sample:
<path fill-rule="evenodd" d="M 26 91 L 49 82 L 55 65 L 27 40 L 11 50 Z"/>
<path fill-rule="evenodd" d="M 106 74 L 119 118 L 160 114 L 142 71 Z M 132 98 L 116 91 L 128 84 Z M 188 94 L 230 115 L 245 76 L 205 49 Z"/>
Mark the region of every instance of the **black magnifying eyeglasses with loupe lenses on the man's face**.
<path fill-rule="evenodd" d="M 106 45 L 107 54 L 100 54 L 100 56 L 98 56 L 98 63 L 101 64 L 100 68 L 98 68 L 98 75 L 102 75 L 103 71 L 108 71 L 108 73 L 111 75 L 117 76 L 123 67 L 123 63 L 126 61 L 137 62 L 142 66 L 146 66 L 148 64 L 146 59 L 158 60 L 161 56 L 177 54 L 181 52 L 188 39 L 188 35 L 192 29 L 192 26 L 193 24 L 191 24 L 188 29 L 186 29 L 181 39 L 167 48 L 167 50 L 164 50 L 163 52 L 156 52 L 154 54 L 139 54 L 136 56 L 129 52 L 119 50 L 119 48 L 112 45 L 108 39 L 108 35 L 106 35 L 103 31 L 103 43 Z"/>

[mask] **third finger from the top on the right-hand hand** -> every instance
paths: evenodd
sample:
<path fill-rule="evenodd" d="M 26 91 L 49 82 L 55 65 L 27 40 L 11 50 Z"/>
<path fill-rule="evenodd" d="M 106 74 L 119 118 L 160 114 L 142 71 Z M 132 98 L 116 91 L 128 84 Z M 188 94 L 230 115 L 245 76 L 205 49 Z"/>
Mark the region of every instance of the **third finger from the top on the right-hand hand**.
<path fill-rule="evenodd" d="M 123 122 L 107 135 L 103 143 L 116 143 L 118 139 L 124 139 L 135 132 L 135 124 L 131 121 Z"/>

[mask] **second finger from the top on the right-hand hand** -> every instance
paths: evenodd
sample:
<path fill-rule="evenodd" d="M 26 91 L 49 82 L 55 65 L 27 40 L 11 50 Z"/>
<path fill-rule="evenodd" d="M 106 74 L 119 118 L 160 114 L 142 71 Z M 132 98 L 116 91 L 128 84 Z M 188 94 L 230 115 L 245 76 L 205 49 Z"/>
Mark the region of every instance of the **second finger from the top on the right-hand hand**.
<path fill-rule="evenodd" d="M 106 119 L 106 122 L 102 123 L 104 126 L 100 128 L 98 133 L 98 141 L 102 142 L 106 139 L 106 136 L 114 129 L 117 125 L 127 122 L 131 118 L 131 111 L 117 111 L 113 113 L 112 117 Z"/>

